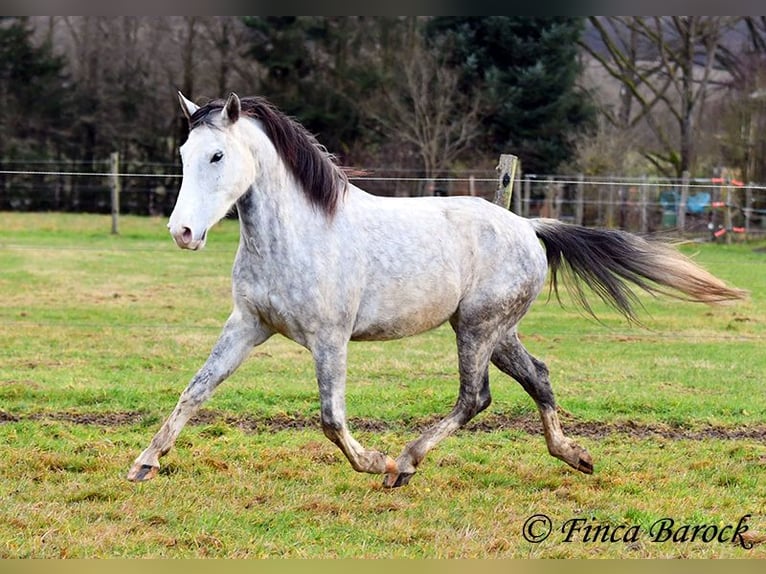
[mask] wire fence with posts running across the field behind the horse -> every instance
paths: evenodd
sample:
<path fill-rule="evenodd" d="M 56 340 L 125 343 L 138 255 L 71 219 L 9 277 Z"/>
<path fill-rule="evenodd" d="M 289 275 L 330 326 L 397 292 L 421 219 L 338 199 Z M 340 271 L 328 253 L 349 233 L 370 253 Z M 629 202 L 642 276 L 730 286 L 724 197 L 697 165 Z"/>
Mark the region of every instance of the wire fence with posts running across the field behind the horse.
<path fill-rule="evenodd" d="M 112 161 L 2 162 L 0 210 L 168 216 L 181 182 L 176 164 Z M 475 195 L 492 200 L 494 170 L 424 178 L 396 168 L 368 168 L 352 182 L 382 196 Z M 115 196 L 115 185 L 119 196 Z M 114 197 L 118 197 L 114 200 Z M 117 205 L 115 205 L 115 201 Z M 511 209 L 627 231 L 709 234 L 713 238 L 766 234 L 766 185 L 723 178 L 590 177 L 518 174 Z"/>

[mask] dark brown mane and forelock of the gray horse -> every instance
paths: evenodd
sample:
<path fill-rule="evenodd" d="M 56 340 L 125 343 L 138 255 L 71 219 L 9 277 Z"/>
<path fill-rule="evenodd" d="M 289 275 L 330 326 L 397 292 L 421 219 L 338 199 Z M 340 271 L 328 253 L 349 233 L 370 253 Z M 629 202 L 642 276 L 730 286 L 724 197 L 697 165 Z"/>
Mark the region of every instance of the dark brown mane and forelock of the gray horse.
<path fill-rule="evenodd" d="M 298 180 L 309 201 L 328 215 L 333 215 L 346 190 L 347 178 L 324 146 L 306 128 L 289 118 L 266 99 L 241 98 L 242 113 L 257 119 L 266 135 Z M 189 119 L 189 130 L 201 124 L 212 124 L 211 113 L 226 105 L 222 99 L 200 107 Z"/>

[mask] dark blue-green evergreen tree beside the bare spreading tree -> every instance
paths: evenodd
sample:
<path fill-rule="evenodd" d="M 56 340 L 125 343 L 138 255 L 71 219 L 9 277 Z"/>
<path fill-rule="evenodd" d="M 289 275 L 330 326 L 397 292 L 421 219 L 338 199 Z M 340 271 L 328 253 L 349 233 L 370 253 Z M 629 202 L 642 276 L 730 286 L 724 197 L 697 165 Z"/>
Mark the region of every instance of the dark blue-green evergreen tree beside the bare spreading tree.
<path fill-rule="evenodd" d="M 466 92 L 487 101 L 484 146 L 513 153 L 524 171 L 552 173 L 570 159 L 575 135 L 595 111 L 577 89 L 581 18 L 445 16 L 428 25 L 430 41 L 462 70 Z"/>

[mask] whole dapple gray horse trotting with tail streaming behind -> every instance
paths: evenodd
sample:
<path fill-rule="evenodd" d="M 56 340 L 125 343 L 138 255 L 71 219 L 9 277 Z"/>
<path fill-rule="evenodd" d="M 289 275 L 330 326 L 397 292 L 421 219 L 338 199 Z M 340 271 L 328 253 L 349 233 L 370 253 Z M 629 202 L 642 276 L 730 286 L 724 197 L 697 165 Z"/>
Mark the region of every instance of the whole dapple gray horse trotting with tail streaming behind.
<path fill-rule="evenodd" d="M 314 358 L 324 434 L 355 470 L 383 474 L 387 487 L 407 484 L 431 448 L 489 406 L 490 361 L 537 404 L 550 454 L 591 473 L 588 452 L 561 429 L 548 369 L 517 335 L 548 268 L 554 289 L 563 271 L 586 309 L 581 285 L 629 319 L 637 301 L 628 283 L 705 303 L 745 296 L 676 250 L 628 233 L 524 219 L 479 198 L 367 194 L 265 100 L 231 94 L 198 107 L 179 99 L 190 132 L 168 228 L 179 247 L 201 249 L 236 205 L 234 306 L 209 358 L 136 459 L 131 481 L 156 476 L 189 418 L 275 333 Z M 395 460 L 364 448 L 346 423 L 348 342 L 407 337 L 447 321 L 458 346 L 454 408 Z"/>

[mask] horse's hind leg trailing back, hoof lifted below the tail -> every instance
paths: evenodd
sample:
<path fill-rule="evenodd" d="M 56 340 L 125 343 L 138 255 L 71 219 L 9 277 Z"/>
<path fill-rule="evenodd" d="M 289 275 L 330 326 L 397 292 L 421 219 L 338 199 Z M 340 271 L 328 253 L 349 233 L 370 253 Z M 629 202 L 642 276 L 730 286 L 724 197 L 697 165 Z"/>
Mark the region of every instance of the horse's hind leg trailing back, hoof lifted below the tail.
<path fill-rule="evenodd" d="M 548 368 L 545 363 L 529 354 L 519 341 L 515 329 L 497 345 L 492 353 L 492 363 L 516 379 L 534 399 L 540 411 L 548 452 L 572 468 L 591 474 L 593 461 L 588 451 L 566 437 L 561 430 Z"/>

